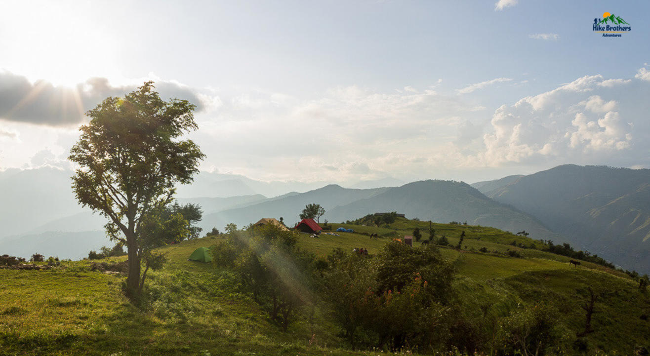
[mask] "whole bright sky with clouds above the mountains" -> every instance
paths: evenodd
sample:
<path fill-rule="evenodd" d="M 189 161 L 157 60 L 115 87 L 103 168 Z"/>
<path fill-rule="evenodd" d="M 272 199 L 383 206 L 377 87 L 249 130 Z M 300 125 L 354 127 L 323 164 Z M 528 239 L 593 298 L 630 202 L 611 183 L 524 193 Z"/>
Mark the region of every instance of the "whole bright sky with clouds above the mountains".
<path fill-rule="evenodd" d="M 3 1 L 0 170 L 69 168 L 86 110 L 153 80 L 201 170 L 473 183 L 650 168 L 645 1 Z M 594 32 L 610 12 L 632 31 Z"/>

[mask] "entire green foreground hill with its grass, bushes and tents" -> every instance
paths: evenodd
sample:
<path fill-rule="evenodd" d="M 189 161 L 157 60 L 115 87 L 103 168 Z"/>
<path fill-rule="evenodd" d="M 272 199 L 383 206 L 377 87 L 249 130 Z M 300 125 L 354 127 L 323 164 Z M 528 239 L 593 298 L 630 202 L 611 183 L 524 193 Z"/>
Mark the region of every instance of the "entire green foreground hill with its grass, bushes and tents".
<path fill-rule="evenodd" d="M 96 262 L 65 261 L 47 270 L 5 268 L 0 270 L 6 286 L 0 292 L 5 301 L 0 311 L 3 352 L 103 355 L 126 350 L 143 355 L 239 355 L 242 351 L 363 355 L 367 351 L 352 350 L 374 346 L 404 353 L 427 353 L 421 348 L 422 342 L 428 342 L 437 345 L 439 350 L 452 348 L 462 354 L 474 351 L 508 354 L 507 350 L 523 347 L 515 337 L 530 337 L 539 340 L 549 351 L 554 348 L 575 355 L 584 351 L 624 355 L 633 353 L 647 341 L 644 316 L 650 311 L 650 298 L 626 273 L 588 261 L 581 261 L 578 267 L 570 266 L 569 257 L 549 252 L 549 242 L 490 227 L 406 218 L 396 218 L 390 225 L 377 227 L 361 221 L 329 224 L 333 231 L 354 230 L 338 236 L 321 233 L 315 238 L 311 233 L 279 229 L 275 224 L 251 224 L 244 230 L 163 246 L 159 251 L 167 256 L 168 263 L 161 270 L 150 272 L 142 309 L 125 302 L 120 293 L 122 274 L 95 269 Z M 422 231 L 422 236 L 413 241 L 413 247 L 396 241 L 412 235 L 415 229 Z M 433 235 L 429 235 L 430 231 Z M 371 239 L 372 234 L 379 238 Z M 400 244 L 431 254 L 417 258 L 429 256 L 426 258 L 433 259 L 430 261 L 437 261 L 438 267 L 431 272 L 418 272 L 424 276 L 438 271 L 434 272 L 438 277 L 429 275 L 432 278 L 429 281 L 420 280 L 425 288 L 427 283 L 434 283 L 434 294 L 428 296 L 428 292 L 417 289 L 422 288 L 418 283 L 420 277 L 408 271 L 420 267 L 409 267 L 407 261 L 419 255 L 407 257 L 410 253 L 398 248 Z M 190 261 L 190 255 L 203 251 L 198 249 L 201 246 L 210 248 L 210 263 Z M 233 250 L 233 246 L 241 247 Z M 352 253 L 355 248 L 367 249 L 368 257 L 357 257 Z M 238 262 L 249 253 L 246 251 L 252 253 L 247 255 L 250 262 Z M 242 255 L 237 257 L 239 253 Z M 285 258 L 278 260 L 280 256 Z M 112 266 L 124 259 L 109 257 L 103 261 Z M 382 268 L 374 271 L 361 267 L 382 259 L 391 261 L 385 272 Z M 254 266 L 250 264 L 252 261 L 257 261 L 260 271 L 280 261 L 304 267 L 294 270 L 289 265 L 283 266 L 275 270 L 279 275 L 273 277 L 255 272 L 254 268 L 250 270 Z M 34 263 L 47 265 L 47 262 Z M 353 267 L 357 264 L 358 267 Z M 341 272 L 353 268 L 346 272 L 354 271 L 349 282 L 328 277 L 341 273 L 337 272 L 339 268 L 343 268 Z M 448 277 L 436 281 L 440 276 L 437 273 L 443 270 Z M 255 279 L 255 275 L 266 282 Z M 365 278 L 372 275 L 379 278 L 378 285 L 367 284 L 369 280 Z M 399 298 L 389 302 L 386 293 L 390 290 L 382 290 L 382 278 L 397 278 L 393 282 L 395 286 L 400 280 L 415 282 L 403 288 L 411 290 L 409 293 L 419 290 L 417 293 L 424 294 L 417 294 L 417 298 L 434 298 L 439 303 L 435 312 L 442 313 L 438 318 L 444 318 L 435 323 L 431 330 L 434 334 L 429 335 L 419 327 L 413 329 L 419 324 L 408 328 L 407 324 L 398 324 L 401 326 L 393 331 L 401 329 L 403 333 L 393 336 L 382 336 L 374 329 L 376 318 L 383 318 L 383 314 L 391 311 L 385 309 L 388 305 L 377 310 L 378 305 L 372 303 L 364 307 L 363 298 L 378 298 L 382 305 L 401 303 L 399 298 L 415 298 L 415 295 L 398 296 L 399 290 L 395 290 L 393 299 Z M 345 283 L 361 283 L 358 286 L 361 289 L 347 290 Z M 371 294 L 365 294 L 368 291 L 364 292 L 363 288 L 367 287 Z M 283 292 L 272 294 L 275 288 Z M 447 291 L 439 294 L 443 290 Z M 590 300 L 590 292 L 597 296 L 593 307 L 598 314 L 593 314 L 585 329 L 586 311 L 582 305 Z M 355 293 L 360 294 L 355 296 Z M 294 309 L 279 309 L 274 314 L 272 303 L 268 304 L 272 301 L 268 298 L 273 295 L 279 298 L 278 303 L 293 303 Z M 420 302 L 411 301 L 400 308 L 416 308 L 413 312 L 417 312 L 419 305 Z M 353 306 L 354 310 L 348 309 Z M 543 310 L 542 314 L 538 309 Z M 374 316 L 366 314 L 371 310 Z M 350 320 L 356 322 L 348 324 Z M 538 324 L 549 322 L 552 324 Z M 535 326 L 538 329 L 521 334 L 525 329 L 517 328 L 525 325 L 538 325 Z M 584 335 L 577 336 L 581 333 Z M 351 349 L 346 351 L 346 348 Z"/>

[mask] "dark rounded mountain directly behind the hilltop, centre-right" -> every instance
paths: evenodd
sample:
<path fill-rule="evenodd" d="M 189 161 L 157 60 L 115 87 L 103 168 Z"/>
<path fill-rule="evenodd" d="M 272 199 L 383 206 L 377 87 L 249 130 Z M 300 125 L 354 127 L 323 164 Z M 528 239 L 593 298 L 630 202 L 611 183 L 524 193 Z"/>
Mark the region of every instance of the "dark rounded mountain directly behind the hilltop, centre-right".
<path fill-rule="evenodd" d="M 469 184 L 454 181 L 419 181 L 389 188 L 382 194 L 332 209 L 325 217 L 339 222 L 384 211 L 442 223 L 467 221 L 512 233 L 526 230 L 530 238 L 562 240 L 536 218 L 489 199 Z"/>

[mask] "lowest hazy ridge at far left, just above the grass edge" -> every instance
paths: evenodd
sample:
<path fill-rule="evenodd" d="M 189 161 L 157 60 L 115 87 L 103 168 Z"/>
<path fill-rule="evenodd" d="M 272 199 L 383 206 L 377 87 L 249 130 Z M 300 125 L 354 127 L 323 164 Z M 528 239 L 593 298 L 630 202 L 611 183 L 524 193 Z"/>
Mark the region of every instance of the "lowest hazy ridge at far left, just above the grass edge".
<path fill-rule="evenodd" d="M 29 259 L 34 253 L 45 258 L 58 256 L 60 259 L 83 259 L 88 251 L 98 250 L 101 246 L 113 246 L 104 231 L 62 232 L 47 231 L 34 235 L 8 236 L 0 239 L 0 255 L 25 257 Z"/>

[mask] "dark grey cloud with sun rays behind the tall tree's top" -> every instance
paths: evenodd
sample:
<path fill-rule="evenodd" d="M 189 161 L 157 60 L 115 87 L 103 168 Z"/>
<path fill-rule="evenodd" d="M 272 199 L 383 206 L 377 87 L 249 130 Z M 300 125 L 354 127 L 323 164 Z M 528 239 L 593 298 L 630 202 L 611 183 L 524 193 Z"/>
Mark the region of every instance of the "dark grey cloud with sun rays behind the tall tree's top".
<path fill-rule="evenodd" d="M 106 78 L 90 78 L 74 88 L 53 86 L 47 81 L 30 83 L 27 78 L 0 71 L 0 119 L 38 125 L 75 125 L 84 121 L 84 113 L 108 96 L 123 96 L 132 86 L 112 86 Z M 187 99 L 203 108 L 201 97 L 187 86 L 158 82 L 156 90 L 163 99 Z"/>

